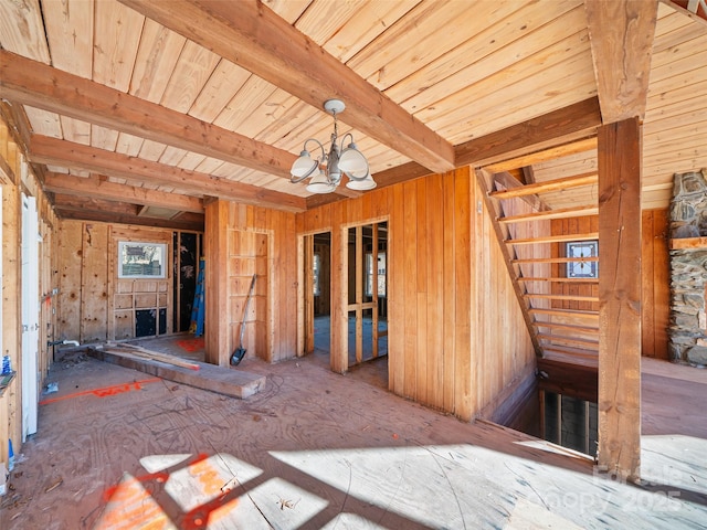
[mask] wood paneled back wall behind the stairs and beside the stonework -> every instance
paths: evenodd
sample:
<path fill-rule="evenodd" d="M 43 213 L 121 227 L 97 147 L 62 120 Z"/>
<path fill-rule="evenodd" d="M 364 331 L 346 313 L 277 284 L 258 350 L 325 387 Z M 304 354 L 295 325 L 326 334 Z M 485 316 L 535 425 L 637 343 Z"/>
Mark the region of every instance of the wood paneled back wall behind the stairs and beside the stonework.
<path fill-rule="evenodd" d="M 597 215 L 587 218 L 552 221 L 552 235 L 567 235 L 597 232 Z M 669 317 L 669 254 L 668 254 L 668 211 L 665 209 L 644 210 L 642 213 L 642 354 L 657 359 L 668 359 L 667 325 Z M 553 256 L 564 256 L 564 243 L 553 244 Z M 601 253 L 601 242 L 600 250 Z M 564 276 L 564 264 L 553 264 L 552 275 Z M 601 274 L 601 269 L 599 271 Z M 553 287 L 555 294 L 571 296 L 598 296 L 597 285 L 567 285 Z M 598 303 L 591 301 L 555 301 L 556 307 L 564 309 L 598 310 Z"/>

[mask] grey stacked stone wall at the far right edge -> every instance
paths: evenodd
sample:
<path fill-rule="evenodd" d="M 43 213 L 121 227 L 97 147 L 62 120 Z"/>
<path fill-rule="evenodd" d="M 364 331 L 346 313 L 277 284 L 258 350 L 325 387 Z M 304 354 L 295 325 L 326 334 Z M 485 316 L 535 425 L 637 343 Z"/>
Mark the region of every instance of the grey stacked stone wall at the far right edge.
<path fill-rule="evenodd" d="M 675 174 L 671 239 L 707 237 L 707 170 Z M 707 364 L 707 247 L 671 251 L 669 356 Z"/>

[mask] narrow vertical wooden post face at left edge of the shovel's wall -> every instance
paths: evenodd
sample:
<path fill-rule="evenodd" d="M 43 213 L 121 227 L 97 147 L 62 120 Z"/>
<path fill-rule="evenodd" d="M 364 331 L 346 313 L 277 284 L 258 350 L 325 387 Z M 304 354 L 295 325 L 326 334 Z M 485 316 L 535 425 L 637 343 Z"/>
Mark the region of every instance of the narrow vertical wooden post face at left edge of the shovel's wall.
<path fill-rule="evenodd" d="M 217 199 L 209 202 L 204 210 L 204 360 L 228 367 L 231 356 L 229 203 Z"/>

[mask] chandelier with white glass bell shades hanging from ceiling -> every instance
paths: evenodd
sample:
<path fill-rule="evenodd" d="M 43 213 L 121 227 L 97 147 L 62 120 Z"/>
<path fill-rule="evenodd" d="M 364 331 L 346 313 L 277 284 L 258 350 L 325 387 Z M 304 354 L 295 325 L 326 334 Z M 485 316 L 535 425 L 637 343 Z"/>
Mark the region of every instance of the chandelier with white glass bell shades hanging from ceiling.
<path fill-rule="evenodd" d="M 372 190 L 376 181 L 371 177 L 368 160 L 354 144 L 354 136 L 350 132 L 344 135 L 341 144 L 338 141 L 338 130 L 336 116 L 346 108 L 340 99 L 327 99 L 324 109 L 334 116 L 334 132 L 331 132 L 331 145 L 327 152 L 321 142 L 315 138 L 305 140 L 299 158 L 292 165 L 291 182 L 297 183 L 310 178 L 306 189 L 310 193 L 331 193 L 341 182 L 341 174 L 348 177 L 346 187 L 351 190 Z M 346 145 L 347 139 L 349 144 Z M 307 150 L 307 144 L 315 142 L 315 149 L 319 148 L 321 155 L 313 159 Z"/>

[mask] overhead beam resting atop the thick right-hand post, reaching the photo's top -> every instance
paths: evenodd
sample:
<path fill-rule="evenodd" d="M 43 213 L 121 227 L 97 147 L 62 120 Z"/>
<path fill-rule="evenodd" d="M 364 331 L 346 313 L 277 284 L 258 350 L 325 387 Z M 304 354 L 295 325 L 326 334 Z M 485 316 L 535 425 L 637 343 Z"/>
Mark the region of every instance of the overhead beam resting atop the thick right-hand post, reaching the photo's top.
<path fill-rule="evenodd" d="M 585 0 L 602 121 L 645 116 L 657 0 Z"/>

